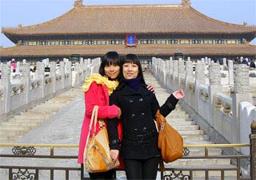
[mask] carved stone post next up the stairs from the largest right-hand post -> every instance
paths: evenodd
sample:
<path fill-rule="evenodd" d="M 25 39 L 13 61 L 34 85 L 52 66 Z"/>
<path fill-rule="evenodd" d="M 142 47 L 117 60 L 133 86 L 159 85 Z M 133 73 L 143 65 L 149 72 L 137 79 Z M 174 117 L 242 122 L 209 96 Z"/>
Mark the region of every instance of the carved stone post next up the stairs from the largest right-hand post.
<path fill-rule="evenodd" d="M 218 63 L 212 63 L 209 66 L 209 103 L 210 103 L 210 126 L 214 127 L 214 94 L 216 92 L 222 92 L 220 65 Z"/>

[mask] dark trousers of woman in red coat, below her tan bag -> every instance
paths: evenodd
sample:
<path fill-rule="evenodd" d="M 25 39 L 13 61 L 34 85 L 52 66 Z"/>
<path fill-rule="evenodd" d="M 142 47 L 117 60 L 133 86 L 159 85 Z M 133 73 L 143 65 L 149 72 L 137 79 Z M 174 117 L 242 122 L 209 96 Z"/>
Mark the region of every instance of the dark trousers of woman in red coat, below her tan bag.
<path fill-rule="evenodd" d="M 81 179 L 83 178 L 83 164 L 81 164 Z M 89 173 L 90 179 L 106 179 L 106 180 L 113 180 L 116 178 L 116 170 L 108 170 L 102 173 Z"/>

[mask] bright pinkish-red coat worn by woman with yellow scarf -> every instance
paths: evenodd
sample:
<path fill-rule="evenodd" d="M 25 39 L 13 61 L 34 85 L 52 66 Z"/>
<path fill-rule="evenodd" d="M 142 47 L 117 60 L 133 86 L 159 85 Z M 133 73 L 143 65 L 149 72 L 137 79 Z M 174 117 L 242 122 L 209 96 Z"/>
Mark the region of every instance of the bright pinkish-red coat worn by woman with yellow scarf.
<path fill-rule="evenodd" d="M 82 123 L 82 130 L 80 135 L 80 143 L 78 150 L 78 163 L 83 163 L 83 153 L 84 148 L 86 146 L 86 139 L 90 126 L 90 116 L 94 109 L 94 105 L 98 105 L 98 118 L 105 119 L 106 118 L 114 118 L 118 116 L 118 107 L 115 105 L 109 106 L 110 98 L 107 92 L 106 85 L 96 84 L 93 82 L 90 85 L 90 88 L 87 92 L 85 92 L 85 104 L 86 104 L 86 112 Z M 96 124 L 96 133 L 98 133 L 99 125 Z M 120 135 L 120 133 L 119 133 Z"/>

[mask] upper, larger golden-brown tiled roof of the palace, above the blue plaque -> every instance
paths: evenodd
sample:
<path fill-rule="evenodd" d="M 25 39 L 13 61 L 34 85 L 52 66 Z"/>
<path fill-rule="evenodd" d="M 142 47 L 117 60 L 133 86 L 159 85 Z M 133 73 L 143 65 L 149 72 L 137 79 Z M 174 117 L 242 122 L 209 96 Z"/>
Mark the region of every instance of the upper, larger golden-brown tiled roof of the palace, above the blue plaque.
<path fill-rule="evenodd" d="M 13 35 L 98 33 L 256 33 L 256 26 L 209 18 L 182 5 L 76 6 L 49 22 L 2 28 Z"/>

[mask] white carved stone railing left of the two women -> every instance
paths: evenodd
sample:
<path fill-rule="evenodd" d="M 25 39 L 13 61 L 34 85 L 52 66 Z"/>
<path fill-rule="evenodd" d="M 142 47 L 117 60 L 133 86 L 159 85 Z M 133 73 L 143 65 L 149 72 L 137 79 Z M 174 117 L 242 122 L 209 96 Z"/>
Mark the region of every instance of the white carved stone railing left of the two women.
<path fill-rule="evenodd" d="M 58 92 L 71 87 L 79 87 L 91 73 L 98 72 L 100 58 L 83 60 L 72 67 L 68 60 L 55 62 L 43 60 L 37 62 L 37 70 L 30 72 L 30 66 L 23 61 L 19 66 L 21 72 L 10 72 L 8 64 L 1 64 L 0 81 L 0 116 L 1 121 L 22 109 L 29 108 L 34 102 L 45 101 Z M 50 72 L 45 72 L 50 67 Z M 72 70 L 73 69 L 73 70 Z"/>

